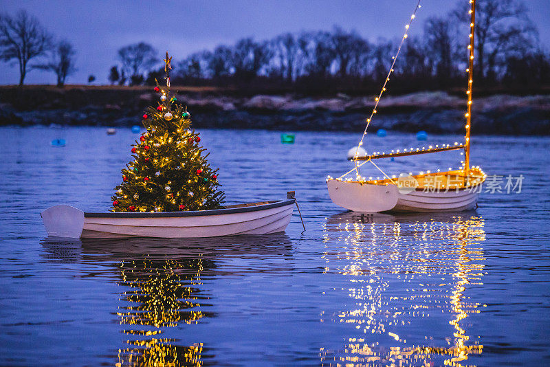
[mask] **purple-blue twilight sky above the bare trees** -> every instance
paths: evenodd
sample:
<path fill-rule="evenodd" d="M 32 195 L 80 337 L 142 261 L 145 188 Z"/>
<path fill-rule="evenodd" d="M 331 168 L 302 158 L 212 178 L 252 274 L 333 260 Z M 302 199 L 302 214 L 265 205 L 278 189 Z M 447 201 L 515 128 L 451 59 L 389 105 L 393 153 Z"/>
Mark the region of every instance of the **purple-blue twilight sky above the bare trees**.
<path fill-rule="evenodd" d="M 458 1 L 422 0 L 410 34 L 421 34 L 423 21 L 445 15 Z M 0 11 L 14 14 L 25 9 L 58 38 L 77 51 L 76 74 L 69 84 L 107 82 L 109 68 L 117 63 L 117 50 L 130 43 L 151 43 L 159 56 L 166 50 L 180 60 L 192 52 L 232 44 L 252 36 L 271 38 L 282 32 L 331 30 L 340 25 L 356 30 L 371 41 L 401 36 L 417 0 L 0 0 Z M 538 26 L 540 41 L 550 46 L 550 0 L 525 0 Z M 176 60 L 176 61 L 177 61 Z M 53 73 L 34 70 L 25 84 L 54 84 Z M 17 84 L 19 71 L 0 63 L 0 84 Z"/>

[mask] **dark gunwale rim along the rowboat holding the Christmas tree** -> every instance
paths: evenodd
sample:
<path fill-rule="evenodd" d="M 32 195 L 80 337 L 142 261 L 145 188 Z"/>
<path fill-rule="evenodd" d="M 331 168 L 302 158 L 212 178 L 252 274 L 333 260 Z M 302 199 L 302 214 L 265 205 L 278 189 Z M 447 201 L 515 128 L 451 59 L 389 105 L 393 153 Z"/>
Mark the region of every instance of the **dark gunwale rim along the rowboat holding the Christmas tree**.
<path fill-rule="evenodd" d="M 261 201 L 263 203 L 265 201 Z M 267 204 L 245 206 L 242 208 L 228 209 L 212 209 L 212 210 L 192 210 L 188 212 L 107 212 L 107 213 L 89 213 L 85 212 L 85 218 L 169 218 L 179 216 L 206 216 L 206 215 L 221 215 L 235 214 L 245 212 L 257 212 L 259 210 L 267 210 L 279 208 L 281 206 L 293 205 L 296 199 L 269 201 Z"/>

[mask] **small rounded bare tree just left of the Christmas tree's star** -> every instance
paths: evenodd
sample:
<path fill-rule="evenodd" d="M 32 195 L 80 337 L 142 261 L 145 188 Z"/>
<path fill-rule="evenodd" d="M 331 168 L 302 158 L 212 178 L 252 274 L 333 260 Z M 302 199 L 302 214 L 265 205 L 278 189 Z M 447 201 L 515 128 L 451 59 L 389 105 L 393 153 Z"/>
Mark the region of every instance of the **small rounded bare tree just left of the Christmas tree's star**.
<path fill-rule="evenodd" d="M 158 62 L 157 51 L 144 42 L 122 47 L 118 50 L 118 58 L 122 63 L 122 75 L 129 75 L 131 80 L 143 80 L 143 74 Z"/>

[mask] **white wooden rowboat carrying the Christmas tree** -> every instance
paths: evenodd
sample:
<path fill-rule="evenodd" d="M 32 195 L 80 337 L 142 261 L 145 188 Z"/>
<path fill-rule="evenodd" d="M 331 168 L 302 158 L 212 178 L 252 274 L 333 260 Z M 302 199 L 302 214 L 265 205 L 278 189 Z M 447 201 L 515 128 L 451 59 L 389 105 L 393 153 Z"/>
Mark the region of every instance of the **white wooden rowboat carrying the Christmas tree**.
<path fill-rule="evenodd" d="M 203 238 L 285 232 L 296 199 L 186 212 L 83 212 L 55 205 L 41 213 L 48 236 Z"/>

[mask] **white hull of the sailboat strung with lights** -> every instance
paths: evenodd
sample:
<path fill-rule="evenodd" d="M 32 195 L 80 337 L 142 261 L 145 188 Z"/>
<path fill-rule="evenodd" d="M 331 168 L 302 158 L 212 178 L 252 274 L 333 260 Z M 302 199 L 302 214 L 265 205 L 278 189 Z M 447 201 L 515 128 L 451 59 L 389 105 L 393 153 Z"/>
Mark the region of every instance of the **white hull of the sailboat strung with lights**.
<path fill-rule="evenodd" d="M 375 185 L 331 179 L 327 186 L 333 203 L 353 212 L 459 212 L 475 209 L 479 197 L 477 190 L 470 189 L 402 193 L 391 183 Z"/>

